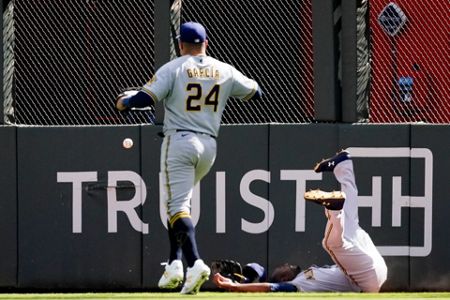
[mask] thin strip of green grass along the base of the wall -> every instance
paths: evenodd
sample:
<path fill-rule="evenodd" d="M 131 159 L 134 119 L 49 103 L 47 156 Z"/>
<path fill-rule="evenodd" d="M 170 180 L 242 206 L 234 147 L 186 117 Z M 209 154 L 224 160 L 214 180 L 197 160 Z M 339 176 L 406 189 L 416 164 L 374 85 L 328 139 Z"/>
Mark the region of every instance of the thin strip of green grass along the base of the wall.
<path fill-rule="evenodd" d="M 179 293 L 56 293 L 0 294 L 0 299 L 450 299 L 450 293 L 219 293 L 200 292 L 197 295 Z"/>

